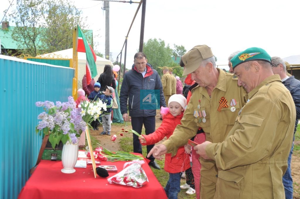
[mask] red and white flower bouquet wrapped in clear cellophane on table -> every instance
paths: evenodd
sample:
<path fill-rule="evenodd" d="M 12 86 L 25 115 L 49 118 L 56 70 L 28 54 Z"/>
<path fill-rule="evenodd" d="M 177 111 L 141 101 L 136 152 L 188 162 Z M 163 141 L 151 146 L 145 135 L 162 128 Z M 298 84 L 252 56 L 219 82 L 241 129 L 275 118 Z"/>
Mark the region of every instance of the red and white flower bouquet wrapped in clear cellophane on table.
<path fill-rule="evenodd" d="M 116 183 L 120 185 L 133 186 L 140 188 L 148 181 L 147 175 L 139 163 L 134 163 L 113 177 L 107 179 L 109 183 Z"/>

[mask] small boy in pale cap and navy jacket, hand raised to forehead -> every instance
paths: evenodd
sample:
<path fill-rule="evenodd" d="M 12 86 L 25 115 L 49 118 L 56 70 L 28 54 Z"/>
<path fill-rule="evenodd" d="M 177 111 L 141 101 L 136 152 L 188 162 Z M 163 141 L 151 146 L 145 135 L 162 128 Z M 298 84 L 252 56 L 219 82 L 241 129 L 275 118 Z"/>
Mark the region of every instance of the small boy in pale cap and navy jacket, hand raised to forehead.
<path fill-rule="evenodd" d="M 111 131 L 111 115 L 112 115 L 112 107 L 113 107 L 113 87 L 105 86 L 106 90 L 104 91 L 103 95 L 100 95 L 99 99 L 106 103 L 106 110 L 103 112 L 102 115 L 102 126 L 103 131 L 100 135 L 110 135 Z"/>

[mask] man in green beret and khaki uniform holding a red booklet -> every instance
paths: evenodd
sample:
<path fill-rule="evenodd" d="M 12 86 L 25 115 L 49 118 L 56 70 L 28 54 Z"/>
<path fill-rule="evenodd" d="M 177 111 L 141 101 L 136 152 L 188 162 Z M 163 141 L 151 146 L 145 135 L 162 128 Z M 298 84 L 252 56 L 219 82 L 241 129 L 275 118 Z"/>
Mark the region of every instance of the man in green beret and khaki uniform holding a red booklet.
<path fill-rule="evenodd" d="M 214 198 L 282 199 L 282 176 L 292 146 L 295 105 L 291 94 L 271 69 L 271 57 L 249 48 L 231 59 L 247 103 L 223 142 L 194 147 L 202 158 L 216 162 Z"/>

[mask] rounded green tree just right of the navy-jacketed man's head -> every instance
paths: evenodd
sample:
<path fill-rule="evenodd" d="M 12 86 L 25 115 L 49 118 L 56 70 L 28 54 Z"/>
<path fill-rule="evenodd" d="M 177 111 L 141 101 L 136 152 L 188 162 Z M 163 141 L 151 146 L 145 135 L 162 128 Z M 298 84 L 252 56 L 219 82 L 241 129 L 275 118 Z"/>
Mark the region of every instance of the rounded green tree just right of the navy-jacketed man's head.
<path fill-rule="evenodd" d="M 171 59 L 172 49 L 169 44 L 166 46 L 164 40 L 149 39 L 144 43 L 143 52 L 146 54 L 149 64 L 156 70 L 158 67 L 169 66 L 173 62 Z"/>

